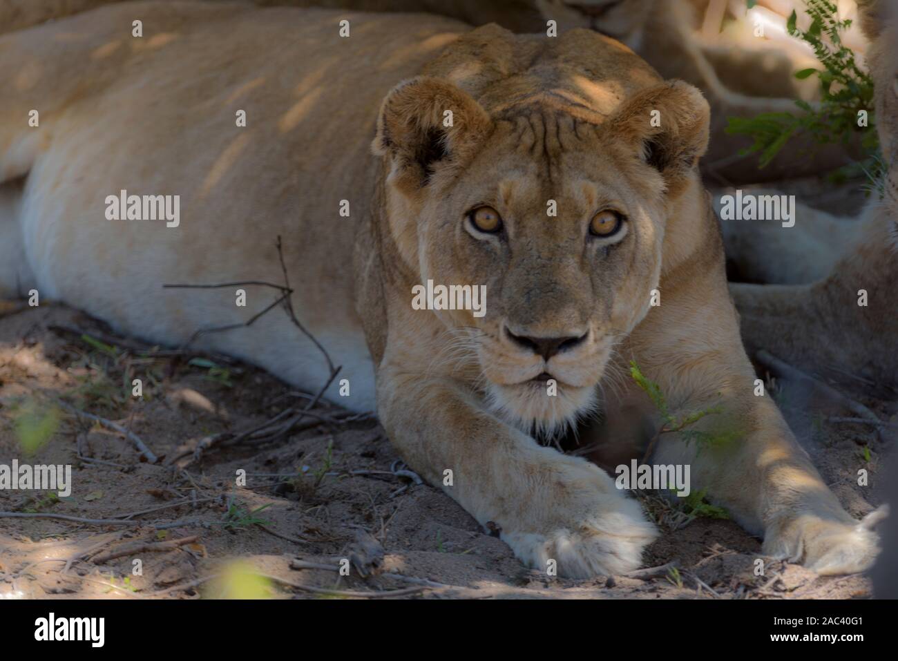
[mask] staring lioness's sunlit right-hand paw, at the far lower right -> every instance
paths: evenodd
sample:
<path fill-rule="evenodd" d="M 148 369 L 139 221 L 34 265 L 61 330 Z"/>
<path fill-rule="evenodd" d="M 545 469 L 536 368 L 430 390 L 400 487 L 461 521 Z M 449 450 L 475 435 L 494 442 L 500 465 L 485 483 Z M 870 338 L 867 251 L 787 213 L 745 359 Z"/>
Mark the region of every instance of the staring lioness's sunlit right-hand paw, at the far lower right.
<path fill-rule="evenodd" d="M 876 510 L 853 524 L 817 516 L 801 516 L 764 540 L 764 552 L 800 562 L 818 574 L 855 574 L 870 568 L 879 552 L 879 536 L 871 530 L 884 516 Z"/>

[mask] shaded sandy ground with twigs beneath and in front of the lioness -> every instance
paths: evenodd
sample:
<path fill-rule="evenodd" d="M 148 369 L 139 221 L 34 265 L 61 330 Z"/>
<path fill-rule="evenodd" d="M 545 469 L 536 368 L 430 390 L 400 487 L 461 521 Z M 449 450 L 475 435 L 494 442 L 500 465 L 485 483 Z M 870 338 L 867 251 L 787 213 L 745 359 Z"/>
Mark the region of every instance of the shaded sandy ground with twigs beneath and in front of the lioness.
<path fill-rule="evenodd" d="M 275 442 L 213 445 L 196 459 L 202 438 L 254 427 L 311 398 L 221 358 L 210 363 L 122 348 L 135 340 L 113 341 L 99 322 L 62 305 L 9 307 L 0 317 L 0 463 L 72 464 L 74 489 L 68 498 L 0 491 L 0 510 L 39 515 L 0 517 L 0 598 L 870 594 L 866 577 L 817 577 L 772 560 L 756 576 L 759 540 L 732 521 L 688 516 L 652 493 L 637 496 L 664 534 L 647 549 L 644 566 L 675 563 L 674 569 L 586 581 L 547 577 L 524 568 L 441 491 L 402 474 L 375 419 L 320 403 L 314 419 Z M 131 396 L 134 378 L 144 383 L 141 399 Z M 886 443 L 868 427 L 829 421 L 845 413 L 814 410 L 788 383 L 770 385 L 850 513 L 859 517 L 876 507 Z M 880 418 L 895 419 L 894 403 L 846 392 Z M 118 422 L 160 461 L 141 461 L 127 437 L 60 408 L 60 399 Z M 22 442 L 41 441 L 33 454 L 24 453 Z M 867 488 L 856 483 L 859 468 L 870 472 Z M 235 484 L 241 469 L 245 486 Z M 342 559 L 350 560 L 349 576 L 332 570 Z M 132 571 L 134 560 L 142 562 L 140 575 Z"/>

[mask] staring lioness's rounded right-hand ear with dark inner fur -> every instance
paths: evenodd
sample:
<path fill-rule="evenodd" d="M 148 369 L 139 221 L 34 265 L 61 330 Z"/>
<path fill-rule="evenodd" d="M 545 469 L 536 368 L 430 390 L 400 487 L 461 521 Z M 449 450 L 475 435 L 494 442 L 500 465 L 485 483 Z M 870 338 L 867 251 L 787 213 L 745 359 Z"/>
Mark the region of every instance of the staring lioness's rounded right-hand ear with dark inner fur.
<path fill-rule="evenodd" d="M 710 108 L 691 84 L 670 81 L 625 101 L 606 125 L 623 138 L 668 185 L 691 172 L 708 149 Z"/>

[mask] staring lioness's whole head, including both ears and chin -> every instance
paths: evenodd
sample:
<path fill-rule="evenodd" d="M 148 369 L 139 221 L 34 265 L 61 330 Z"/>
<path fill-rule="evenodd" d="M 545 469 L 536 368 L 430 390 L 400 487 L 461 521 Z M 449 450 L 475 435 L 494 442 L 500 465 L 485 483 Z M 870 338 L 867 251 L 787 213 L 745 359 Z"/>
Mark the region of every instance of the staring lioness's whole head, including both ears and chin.
<path fill-rule="evenodd" d="M 667 217 L 700 185 L 708 104 L 586 30 L 485 26 L 425 74 L 383 101 L 374 139 L 403 286 L 485 285 L 484 316 L 432 312 L 445 343 L 498 414 L 559 431 L 649 309 Z"/>

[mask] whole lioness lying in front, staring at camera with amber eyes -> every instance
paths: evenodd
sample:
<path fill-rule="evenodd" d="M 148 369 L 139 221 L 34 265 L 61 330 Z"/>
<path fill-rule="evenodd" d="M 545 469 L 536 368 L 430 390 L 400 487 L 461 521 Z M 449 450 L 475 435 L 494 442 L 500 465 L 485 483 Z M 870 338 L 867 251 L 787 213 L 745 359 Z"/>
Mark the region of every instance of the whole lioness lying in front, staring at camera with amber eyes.
<path fill-rule="evenodd" d="M 281 235 L 292 304 L 351 388 L 328 396 L 376 408 L 409 464 L 533 567 L 626 572 L 656 537 L 607 474 L 533 436 L 599 404 L 657 427 L 635 385 L 607 387 L 629 360 L 672 412 L 720 407 L 691 430 L 737 437 L 665 435 L 654 458 L 691 464 L 691 489 L 766 553 L 823 573 L 873 560 L 875 534 L 753 394 L 698 173 L 708 103 L 621 43 L 122 4 L 4 36 L 0 85 L 0 179 L 24 178 L 0 208 L 7 294 L 34 288 L 177 345 L 276 293 L 246 286 L 241 307 L 233 289 L 163 284 L 280 282 Z M 110 219 L 131 194 L 180 200 L 177 222 Z M 416 309 L 428 281 L 485 286 L 485 314 Z M 310 390 L 329 375 L 279 314 L 199 343 Z"/>

